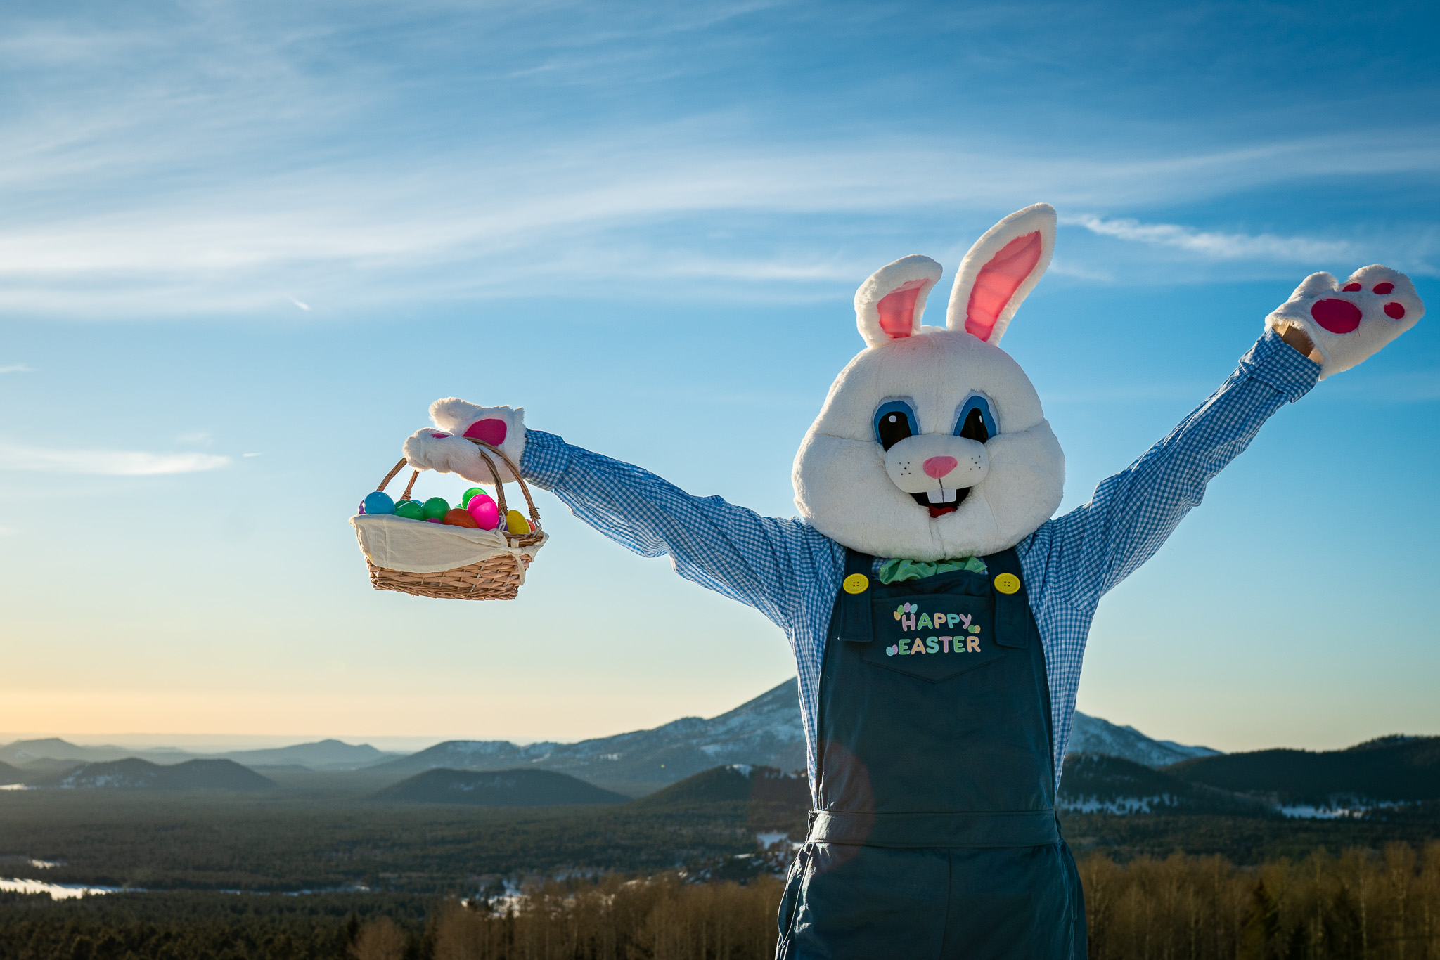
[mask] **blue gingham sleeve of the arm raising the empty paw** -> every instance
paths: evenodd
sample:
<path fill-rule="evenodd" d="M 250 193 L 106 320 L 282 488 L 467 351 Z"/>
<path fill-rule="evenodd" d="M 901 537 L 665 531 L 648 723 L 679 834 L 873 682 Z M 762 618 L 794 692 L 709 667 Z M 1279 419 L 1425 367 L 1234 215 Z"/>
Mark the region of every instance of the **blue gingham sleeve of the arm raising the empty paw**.
<path fill-rule="evenodd" d="M 1320 367 L 1267 330 L 1218 390 L 1140 459 L 1100 482 L 1090 502 L 1051 520 L 1024 544 L 1043 590 L 1093 609 L 1155 556 L 1198 507 L 1205 485 L 1238 456 L 1286 402 L 1299 400 Z M 1037 563 L 1037 560 L 1040 563 Z"/>

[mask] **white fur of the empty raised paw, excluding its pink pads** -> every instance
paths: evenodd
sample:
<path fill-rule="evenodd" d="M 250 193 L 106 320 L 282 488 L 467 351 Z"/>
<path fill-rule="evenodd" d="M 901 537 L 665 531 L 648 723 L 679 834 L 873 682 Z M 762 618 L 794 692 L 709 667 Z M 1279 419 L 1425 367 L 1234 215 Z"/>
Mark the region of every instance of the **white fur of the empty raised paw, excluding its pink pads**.
<path fill-rule="evenodd" d="M 1395 285 L 1388 294 L 1375 294 L 1374 288 L 1381 282 Z M 1359 284 L 1358 291 L 1341 289 L 1349 284 Z M 1359 327 L 1348 334 L 1333 334 L 1310 317 L 1310 308 L 1316 301 L 1344 299 L 1355 304 L 1361 311 Z M 1392 320 L 1385 315 L 1385 304 L 1400 304 L 1405 308 L 1405 315 Z M 1338 284 L 1331 273 L 1310 273 L 1295 288 L 1290 299 L 1280 304 L 1274 312 L 1264 318 L 1267 327 L 1283 334 L 1287 327 L 1299 327 L 1315 344 L 1320 354 L 1320 380 L 1332 373 L 1341 373 L 1365 361 L 1391 340 L 1405 332 L 1426 315 L 1426 305 L 1416 294 L 1416 285 L 1400 271 L 1372 263 L 1362 266 L 1345 281 Z"/>

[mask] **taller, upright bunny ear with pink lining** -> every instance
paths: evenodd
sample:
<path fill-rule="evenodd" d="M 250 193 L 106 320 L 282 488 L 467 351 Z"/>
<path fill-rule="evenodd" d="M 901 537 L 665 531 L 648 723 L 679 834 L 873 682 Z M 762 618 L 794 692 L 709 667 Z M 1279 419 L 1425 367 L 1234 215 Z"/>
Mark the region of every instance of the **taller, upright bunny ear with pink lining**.
<path fill-rule="evenodd" d="M 960 261 L 945 325 L 998 344 L 1054 249 L 1056 209 L 1048 203 L 1017 210 L 992 226 Z"/>

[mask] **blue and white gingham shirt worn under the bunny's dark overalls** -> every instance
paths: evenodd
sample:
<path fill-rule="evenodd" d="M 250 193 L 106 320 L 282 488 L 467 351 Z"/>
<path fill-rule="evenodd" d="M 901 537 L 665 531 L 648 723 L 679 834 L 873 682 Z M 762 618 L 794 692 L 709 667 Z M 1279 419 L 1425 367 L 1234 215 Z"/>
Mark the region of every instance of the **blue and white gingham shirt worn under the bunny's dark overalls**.
<path fill-rule="evenodd" d="M 1210 479 L 1280 404 L 1305 396 L 1319 370 L 1267 330 L 1230 379 L 1165 439 L 1102 481 L 1090 502 L 1015 544 L 1045 651 L 1057 786 L 1100 597 L 1159 550 L 1200 505 Z M 615 543 L 645 557 L 670 554 L 680 576 L 753 606 L 785 630 L 799 668 L 814 793 L 819 674 L 845 548 L 799 518 L 762 517 L 719 497 L 694 497 L 553 433 L 528 430 L 521 472 Z"/>

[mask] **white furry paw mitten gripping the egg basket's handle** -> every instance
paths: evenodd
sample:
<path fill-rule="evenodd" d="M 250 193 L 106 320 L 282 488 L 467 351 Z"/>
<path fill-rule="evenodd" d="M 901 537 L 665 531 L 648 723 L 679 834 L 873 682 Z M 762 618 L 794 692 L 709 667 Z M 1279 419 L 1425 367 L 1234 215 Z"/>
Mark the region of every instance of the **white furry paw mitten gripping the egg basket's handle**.
<path fill-rule="evenodd" d="M 435 427 L 416 430 L 405 440 L 405 458 L 412 466 L 441 474 L 459 474 L 477 484 L 492 484 L 494 476 L 481 456 L 481 449 L 467 440 L 472 436 L 498 446 L 514 463 L 526 452 L 524 407 L 480 407 L 456 397 L 431 404 Z M 504 461 L 491 455 L 501 481 L 513 481 L 514 474 Z"/>

